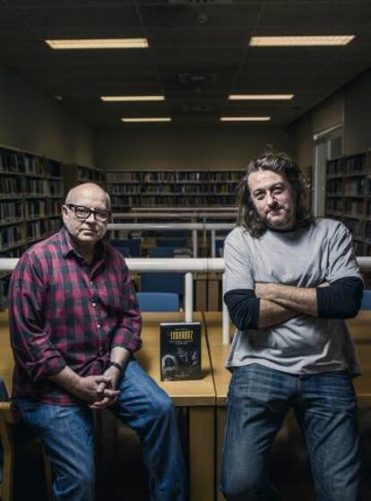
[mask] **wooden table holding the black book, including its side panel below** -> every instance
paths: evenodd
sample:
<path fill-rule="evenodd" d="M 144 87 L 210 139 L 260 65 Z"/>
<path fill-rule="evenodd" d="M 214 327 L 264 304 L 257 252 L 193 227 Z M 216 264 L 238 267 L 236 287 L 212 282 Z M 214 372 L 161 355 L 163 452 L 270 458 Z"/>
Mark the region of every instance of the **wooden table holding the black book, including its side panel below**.
<path fill-rule="evenodd" d="M 175 406 L 189 410 L 189 476 L 191 501 L 214 499 L 215 492 L 215 388 L 206 342 L 203 315 L 201 322 L 203 379 L 197 381 L 160 381 L 160 322 L 183 322 L 183 313 L 144 313 L 143 348 L 137 354 L 142 367 L 168 393 Z"/>

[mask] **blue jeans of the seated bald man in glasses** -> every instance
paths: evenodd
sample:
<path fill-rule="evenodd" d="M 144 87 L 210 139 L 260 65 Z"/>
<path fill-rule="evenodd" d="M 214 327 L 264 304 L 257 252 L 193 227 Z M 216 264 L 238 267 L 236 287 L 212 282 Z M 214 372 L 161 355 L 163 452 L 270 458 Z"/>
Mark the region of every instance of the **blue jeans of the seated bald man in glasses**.
<path fill-rule="evenodd" d="M 118 400 L 109 408 L 139 435 L 150 474 L 152 501 L 185 501 L 186 466 L 177 421 L 168 395 L 134 358 L 118 386 Z M 59 406 L 27 398 L 17 399 L 23 419 L 45 445 L 54 472 L 57 501 L 94 499 L 94 440 L 88 407 Z M 125 471 L 123 471 L 125 479 Z"/>

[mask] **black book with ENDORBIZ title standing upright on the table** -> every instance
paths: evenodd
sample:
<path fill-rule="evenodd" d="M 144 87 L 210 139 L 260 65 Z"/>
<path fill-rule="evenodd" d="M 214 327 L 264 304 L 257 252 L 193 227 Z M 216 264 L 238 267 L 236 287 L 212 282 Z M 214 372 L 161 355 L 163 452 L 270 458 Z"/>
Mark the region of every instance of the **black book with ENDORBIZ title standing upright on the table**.
<path fill-rule="evenodd" d="M 201 379 L 201 324 L 160 324 L 161 381 Z"/>

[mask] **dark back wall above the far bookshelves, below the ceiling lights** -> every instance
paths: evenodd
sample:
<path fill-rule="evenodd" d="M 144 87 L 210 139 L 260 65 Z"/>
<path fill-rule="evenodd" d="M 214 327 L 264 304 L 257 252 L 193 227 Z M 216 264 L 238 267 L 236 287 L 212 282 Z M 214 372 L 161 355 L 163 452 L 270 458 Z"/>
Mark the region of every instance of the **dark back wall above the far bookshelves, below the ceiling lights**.
<path fill-rule="evenodd" d="M 289 135 L 278 126 L 222 124 L 210 128 L 125 126 L 95 135 L 100 168 L 244 168 L 266 143 L 289 151 Z"/>

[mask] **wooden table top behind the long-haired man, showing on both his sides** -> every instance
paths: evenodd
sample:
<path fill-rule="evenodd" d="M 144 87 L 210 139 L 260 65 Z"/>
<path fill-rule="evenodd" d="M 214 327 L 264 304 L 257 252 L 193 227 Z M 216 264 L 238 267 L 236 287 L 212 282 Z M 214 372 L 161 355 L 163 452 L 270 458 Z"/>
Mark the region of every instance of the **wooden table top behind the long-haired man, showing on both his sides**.
<path fill-rule="evenodd" d="M 225 405 L 230 381 L 230 372 L 224 367 L 229 346 L 221 341 L 221 312 L 204 313 L 206 332 L 214 374 L 217 405 Z M 363 375 L 354 379 L 358 399 L 371 398 L 371 311 L 360 311 L 356 318 L 347 320 L 349 332 L 358 348 Z M 234 327 L 231 326 L 233 332 Z"/>

